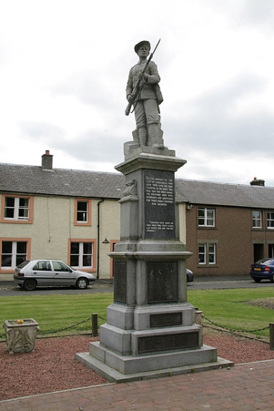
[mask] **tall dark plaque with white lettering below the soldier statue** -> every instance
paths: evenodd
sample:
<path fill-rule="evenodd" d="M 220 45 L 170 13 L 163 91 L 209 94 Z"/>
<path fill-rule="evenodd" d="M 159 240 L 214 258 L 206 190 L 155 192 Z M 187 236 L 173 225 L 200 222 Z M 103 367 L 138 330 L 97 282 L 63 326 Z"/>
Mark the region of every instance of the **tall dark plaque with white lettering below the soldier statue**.
<path fill-rule="evenodd" d="M 172 171 L 145 170 L 145 238 L 175 239 L 175 194 Z"/>

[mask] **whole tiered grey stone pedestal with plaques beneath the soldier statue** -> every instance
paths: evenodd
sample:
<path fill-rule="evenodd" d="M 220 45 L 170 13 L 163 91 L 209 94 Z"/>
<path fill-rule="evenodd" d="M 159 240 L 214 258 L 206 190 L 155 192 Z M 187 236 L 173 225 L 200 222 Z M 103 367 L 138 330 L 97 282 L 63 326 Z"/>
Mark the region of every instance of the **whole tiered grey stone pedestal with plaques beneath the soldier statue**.
<path fill-rule="evenodd" d="M 203 328 L 186 297 L 186 260 L 178 240 L 175 171 L 186 163 L 157 147 L 125 149 L 121 241 L 114 259 L 114 302 L 100 342 L 77 354 L 109 381 L 231 365 L 203 345 Z"/>

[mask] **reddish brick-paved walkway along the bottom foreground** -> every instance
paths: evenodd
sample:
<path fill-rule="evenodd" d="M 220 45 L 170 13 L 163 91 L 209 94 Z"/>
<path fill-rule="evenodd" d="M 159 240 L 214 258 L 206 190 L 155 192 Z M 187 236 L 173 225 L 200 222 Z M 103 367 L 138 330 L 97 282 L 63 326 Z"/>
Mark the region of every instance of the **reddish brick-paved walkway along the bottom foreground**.
<path fill-rule="evenodd" d="M 0 402 L 1 411 L 273 411 L 274 360 Z"/>

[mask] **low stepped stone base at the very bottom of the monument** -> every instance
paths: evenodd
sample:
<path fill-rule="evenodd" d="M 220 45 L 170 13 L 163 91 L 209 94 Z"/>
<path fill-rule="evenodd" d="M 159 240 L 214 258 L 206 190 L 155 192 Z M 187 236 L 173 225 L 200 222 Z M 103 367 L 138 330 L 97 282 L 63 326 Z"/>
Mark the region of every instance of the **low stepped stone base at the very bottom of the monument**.
<path fill-rule="evenodd" d="M 121 356 L 101 347 L 99 343 L 90 343 L 90 352 L 77 353 L 76 359 L 108 379 L 109 382 L 116 383 L 198 373 L 234 365 L 229 360 L 217 357 L 216 349 L 208 345 L 184 352 L 133 357 Z M 118 369 L 127 372 L 123 373 Z M 130 372 L 130 370 L 134 370 L 134 372 Z"/>

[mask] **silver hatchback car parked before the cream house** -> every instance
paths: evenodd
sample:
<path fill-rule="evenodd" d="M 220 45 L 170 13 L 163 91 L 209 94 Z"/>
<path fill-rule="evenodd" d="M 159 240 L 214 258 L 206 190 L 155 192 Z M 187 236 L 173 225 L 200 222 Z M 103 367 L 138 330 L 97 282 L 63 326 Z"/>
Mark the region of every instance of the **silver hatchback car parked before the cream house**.
<path fill-rule="evenodd" d="M 72 269 L 60 260 L 27 260 L 18 265 L 14 282 L 27 291 L 36 286 L 75 286 L 80 290 L 95 282 L 95 276 Z"/>

